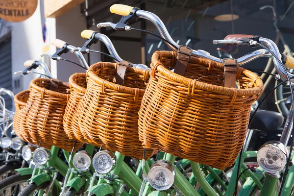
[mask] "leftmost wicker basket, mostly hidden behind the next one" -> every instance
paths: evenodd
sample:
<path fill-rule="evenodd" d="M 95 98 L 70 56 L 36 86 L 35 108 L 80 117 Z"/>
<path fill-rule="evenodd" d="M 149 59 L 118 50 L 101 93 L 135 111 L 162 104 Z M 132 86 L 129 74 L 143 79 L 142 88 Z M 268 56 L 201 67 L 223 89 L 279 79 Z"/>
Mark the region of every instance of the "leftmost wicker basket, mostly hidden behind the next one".
<path fill-rule="evenodd" d="M 14 104 L 15 104 L 15 115 L 13 119 L 13 129 L 17 136 L 19 136 L 22 140 L 25 142 L 31 143 L 31 144 L 39 144 L 38 141 L 34 141 L 29 135 L 25 134 L 25 131 L 23 127 L 21 126 L 21 118 L 23 114 L 23 108 L 25 107 L 25 104 L 29 97 L 29 91 L 22 91 L 14 96 Z M 51 148 L 50 145 L 42 143 L 42 147 Z"/>

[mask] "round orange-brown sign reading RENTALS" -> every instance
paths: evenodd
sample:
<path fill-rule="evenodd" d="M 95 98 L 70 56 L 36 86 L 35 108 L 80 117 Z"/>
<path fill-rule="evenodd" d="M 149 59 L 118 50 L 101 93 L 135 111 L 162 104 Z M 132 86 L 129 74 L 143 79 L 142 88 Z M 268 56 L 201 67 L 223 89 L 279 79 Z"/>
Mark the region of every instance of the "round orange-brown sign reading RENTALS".
<path fill-rule="evenodd" d="M 33 15 L 38 0 L 0 0 L 0 18 L 9 22 L 21 22 Z"/>

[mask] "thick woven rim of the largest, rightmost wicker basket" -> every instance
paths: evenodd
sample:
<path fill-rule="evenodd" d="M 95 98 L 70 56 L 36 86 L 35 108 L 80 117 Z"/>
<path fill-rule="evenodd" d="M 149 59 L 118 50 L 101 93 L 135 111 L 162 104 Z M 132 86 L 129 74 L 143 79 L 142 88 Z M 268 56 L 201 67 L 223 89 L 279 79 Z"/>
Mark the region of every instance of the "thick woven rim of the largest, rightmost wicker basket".
<path fill-rule="evenodd" d="M 169 53 L 170 56 L 162 55 L 161 53 L 163 53 L 163 52 L 165 52 L 165 54 Z M 244 68 L 241 68 L 241 67 L 237 68 L 237 72 L 238 72 L 238 70 L 242 69 L 241 74 L 243 73 L 245 76 L 249 77 L 250 79 L 253 79 L 253 83 L 256 83 L 255 87 L 250 88 L 250 89 L 228 88 L 228 87 L 218 86 L 218 85 L 214 85 L 214 84 L 208 84 L 205 82 L 200 82 L 200 81 L 197 81 L 196 79 L 187 78 L 185 76 L 179 75 L 177 73 L 173 73 L 170 70 L 166 69 L 163 66 L 163 64 L 160 62 L 161 57 L 167 57 L 167 58 L 173 57 L 174 58 L 174 57 L 176 57 L 176 52 L 175 51 L 165 51 L 165 50 L 155 51 L 151 57 L 151 72 L 155 67 L 156 71 L 158 71 L 159 73 L 163 74 L 164 76 L 166 76 L 168 78 L 171 78 L 172 80 L 175 80 L 176 82 L 182 83 L 188 87 L 193 86 L 194 88 L 197 87 L 200 90 L 210 91 L 210 92 L 218 93 L 221 95 L 228 95 L 228 96 L 233 96 L 233 95 L 235 95 L 235 96 L 253 96 L 256 94 L 260 94 L 263 90 L 262 79 L 258 75 L 256 75 L 255 73 L 253 73 L 249 70 L 245 70 Z M 217 63 L 212 60 L 207 60 L 207 59 L 198 58 L 198 57 L 194 57 L 194 56 L 191 56 L 189 63 L 197 63 L 197 61 L 200 59 L 201 59 L 201 61 L 204 61 L 204 63 L 206 63 L 207 65 L 213 63 L 213 64 L 215 64 L 215 67 L 223 69 L 223 65 L 221 63 Z M 153 64 L 153 62 L 154 62 L 154 64 Z M 152 74 L 151 74 L 151 77 L 153 77 Z M 193 89 L 192 89 L 192 91 L 193 91 Z"/>

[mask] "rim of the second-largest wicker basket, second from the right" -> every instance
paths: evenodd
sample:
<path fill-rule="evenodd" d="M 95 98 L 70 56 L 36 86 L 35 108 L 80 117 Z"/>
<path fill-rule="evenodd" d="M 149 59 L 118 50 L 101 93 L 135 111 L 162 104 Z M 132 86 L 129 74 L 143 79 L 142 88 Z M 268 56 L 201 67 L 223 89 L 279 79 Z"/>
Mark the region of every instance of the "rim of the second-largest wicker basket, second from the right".
<path fill-rule="evenodd" d="M 145 89 L 139 89 L 139 88 L 132 88 L 132 87 L 127 87 L 127 86 L 123 86 L 120 84 L 115 84 L 113 82 L 110 82 L 108 80 L 102 79 L 100 78 L 98 75 L 96 75 L 94 73 L 94 70 L 98 67 L 98 66 L 112 66 L 113 68 L 115 68 L 116 66 L 118 66 L 118 63 L 109 63 L 109 62 L 98 62 L 95 63 L 93 65 L 91 65 L 87 71 L 87 76 L 89 76 L 91 79 L 93 79 L 95 82 L 97 82 L 100 85 L 104 85 L 105 87 L 115 90 L 115 91 L 119 91 L 122 93 L 127 93 L 127 94 L 131 94 L 131 95 L 135 95 L 137 94 L 136 92 L 139 91 L 139 95 L 144 95 L 145 93 Z M 139 73 L 144 75 L 144 78 L 149 78 L 149 71 L 148 70 L 142 70 L 142 69 L 138 69 L 138 68 L 134 68 L 134 67 L 129 67 L 127 69 L 129 72 L 134 72 L 134 73 Z M 88 81 L 87 81 L 88 83 Z"/>

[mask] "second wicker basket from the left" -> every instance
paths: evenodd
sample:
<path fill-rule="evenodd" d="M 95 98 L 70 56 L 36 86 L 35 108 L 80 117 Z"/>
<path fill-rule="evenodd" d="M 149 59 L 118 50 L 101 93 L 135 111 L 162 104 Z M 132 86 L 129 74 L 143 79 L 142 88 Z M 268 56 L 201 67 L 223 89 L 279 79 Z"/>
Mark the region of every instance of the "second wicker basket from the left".
<path fill-rule="evenodd" d="M 69 92 L 67 83 L 47 78 L 33 79 L 20 122 L 24 135 L 38 143 L 42 141 L 42 144 L 72 150 L 75 140 L 69 139 L 63 129 Z"/>

